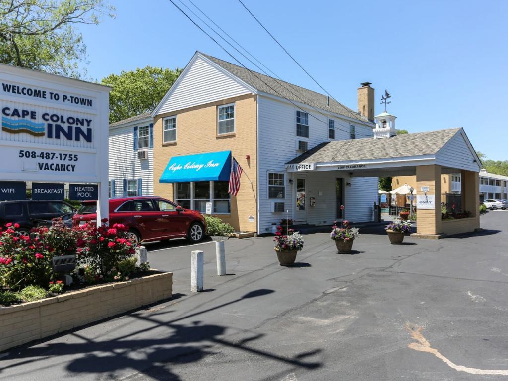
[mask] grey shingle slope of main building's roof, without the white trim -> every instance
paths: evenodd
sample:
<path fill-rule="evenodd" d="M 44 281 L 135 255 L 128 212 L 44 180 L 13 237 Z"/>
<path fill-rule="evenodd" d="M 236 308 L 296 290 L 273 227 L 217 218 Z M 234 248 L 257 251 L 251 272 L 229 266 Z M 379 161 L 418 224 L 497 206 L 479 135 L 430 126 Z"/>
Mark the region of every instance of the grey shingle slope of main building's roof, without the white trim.
<path fill-rule="evenodd" d="M 259 91 L 263 91 L 277 97 L 289 99 L 293 102 L 300 102 L 312 107 L 319 108 L 321 110 L 328 110 L 340 115 L 358 119 L 362 122 L 372 123 L 367 118 L 363 117 L 360 113 L 353 111 L 352 109 L 342 105 L 339 102 L 334 101 L 332 98 L 329 98 L 325 94 L 321 94 L 319 92 L 312 91 L 289 82 L 284 82 L 280 79 L 276 79 L 252 70 L 249 71 L 245 68 L 242 68 L 241 66 L 235 65 L 234 63 L 224 61 L 202 52 L 200 52 L 200 54 L 215 62 L 221 68 L 237 76 L 242 81 L 258 89 Z M 328 105 L 328 102 L 330 105 Z"/>

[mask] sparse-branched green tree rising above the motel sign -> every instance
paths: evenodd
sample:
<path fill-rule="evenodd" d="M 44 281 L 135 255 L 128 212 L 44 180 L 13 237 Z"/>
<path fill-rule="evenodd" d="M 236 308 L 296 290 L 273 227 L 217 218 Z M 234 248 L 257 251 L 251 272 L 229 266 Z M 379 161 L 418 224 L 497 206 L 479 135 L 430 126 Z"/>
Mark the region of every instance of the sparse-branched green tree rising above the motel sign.
<path fill-rule="evenodd" d="M 0 0 L 0 62 L 80 78 L 86 46 L 75 24 L 114 17 L 104 0 Z"/>

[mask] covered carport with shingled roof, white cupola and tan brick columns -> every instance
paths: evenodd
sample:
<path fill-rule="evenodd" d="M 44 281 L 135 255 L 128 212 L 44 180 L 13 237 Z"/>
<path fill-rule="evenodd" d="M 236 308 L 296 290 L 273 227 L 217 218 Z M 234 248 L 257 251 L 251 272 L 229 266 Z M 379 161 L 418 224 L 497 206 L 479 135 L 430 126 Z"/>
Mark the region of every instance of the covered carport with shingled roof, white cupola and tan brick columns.
<path fill-rule="evenodd" d="M 305 173 L 310 181 L 319 181 L 323 172 L 351 179 L 416 176 L 416 237 L 439 238 L 480 228 L 481 162 L 463 129 L 396 135 L 390 126 L 376 123 L 374 138 L 322 143 L 285 167 L 290 178 Z M 469 212 L 469 217 L 441 219 L 440 175 L 444 173 L 461 173 L 462 212 Z M 351 192 L 347 186 L 344 190 Z"/>

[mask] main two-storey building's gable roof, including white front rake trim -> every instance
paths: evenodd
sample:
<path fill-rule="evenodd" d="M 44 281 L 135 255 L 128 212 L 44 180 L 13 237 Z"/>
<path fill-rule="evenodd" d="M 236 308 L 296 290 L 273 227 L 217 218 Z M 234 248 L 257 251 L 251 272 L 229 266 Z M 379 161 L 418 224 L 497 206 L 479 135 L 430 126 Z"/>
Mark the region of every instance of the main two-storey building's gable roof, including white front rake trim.
<path fill-rule="evenodd" d="M 311 107 L 315 107 L 325 112 L 329 111 L 331 113 L 340 114 L 345 117 L 357 119 L 372 127 L 374 125 L 371 121 L 363 117 L 360 113 L 353 111 L 352 109 L 342 105 L 341 103 L 333 100 L 332 98 L 329 98 L 325 94 L 321 94 L 319 92 L 312 91 L 289 82 L 281 81 L 279 79 L 252 70 L 247 70 L 241 66 L 235 65 L 234 63 L 213 57 L 200 51 L 197 51 L 194 54 L 194 56 L 189 60 L 189 62 L 183 69 L 178 79 L 175 81 L 173 86 L 171 86 L 171 88 L 168 90 L 164 98 L 152 112 L 152 116 L 157 115 L 158 111 L 167 102 L 168 98 L 170 97 L 170 94 L 174 91 L 176 86 L 178 86 L 182 78 L 187 73 L 189 67 L 195 61 L 196 57 L 201 57 L 202 59 L 207 61 L 210 65 L 216 67 L 218 70 L 226 73 L 228 76 L 231 76 L 231 78 L 240 82 L 244 86 L 251 88 L 253 92 L 255 91 L 264 92 L 273 95 L 275 97 L 284 98 L 292 102 L 298 102 Z"/>

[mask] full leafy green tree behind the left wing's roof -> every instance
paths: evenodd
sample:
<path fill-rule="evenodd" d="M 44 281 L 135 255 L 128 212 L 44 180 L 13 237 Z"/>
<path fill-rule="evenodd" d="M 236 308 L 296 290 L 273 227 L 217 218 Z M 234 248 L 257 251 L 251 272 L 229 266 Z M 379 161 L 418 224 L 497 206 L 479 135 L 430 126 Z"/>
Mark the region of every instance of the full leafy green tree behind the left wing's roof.
<path fill-rule="evenodd" d="M 109 93 L 109 122 L 153 111 L 181 71 L 147 66 L 104 78 L 102 84 L 113 87 Z"/>

